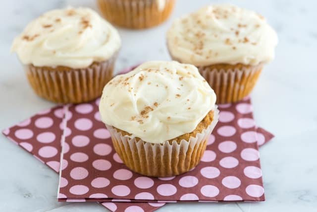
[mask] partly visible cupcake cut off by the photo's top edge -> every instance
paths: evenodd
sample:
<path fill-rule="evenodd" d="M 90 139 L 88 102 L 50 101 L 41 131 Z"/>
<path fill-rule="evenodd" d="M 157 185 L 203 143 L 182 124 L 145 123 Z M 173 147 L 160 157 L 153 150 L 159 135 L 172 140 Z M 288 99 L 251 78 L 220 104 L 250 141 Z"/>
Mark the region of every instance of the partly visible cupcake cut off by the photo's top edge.
<path fill-rule="evenodd" d="M 159 25 L 168 18 L 174 3 L 175 0 L 98 0 L 108 21 L 133 29 Z"/>

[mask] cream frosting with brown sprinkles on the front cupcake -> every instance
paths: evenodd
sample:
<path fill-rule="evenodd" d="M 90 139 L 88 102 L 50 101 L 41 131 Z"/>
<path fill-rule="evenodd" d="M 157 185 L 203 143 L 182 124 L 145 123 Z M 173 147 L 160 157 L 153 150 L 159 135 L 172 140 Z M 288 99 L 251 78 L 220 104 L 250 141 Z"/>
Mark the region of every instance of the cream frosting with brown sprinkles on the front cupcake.
<path fill-rule="evenodd" d="M 195 66 L 152 61 L 110 80 L 99 111 L 107 125 L 162 143 L 194 131 L 215 101 Z"/>

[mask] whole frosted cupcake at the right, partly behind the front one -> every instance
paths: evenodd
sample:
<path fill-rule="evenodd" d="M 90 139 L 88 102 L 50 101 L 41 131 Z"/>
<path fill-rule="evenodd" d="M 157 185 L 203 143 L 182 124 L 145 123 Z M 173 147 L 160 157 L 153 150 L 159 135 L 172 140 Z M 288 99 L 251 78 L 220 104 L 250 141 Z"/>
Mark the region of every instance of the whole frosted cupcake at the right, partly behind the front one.
<path fill-rule="evenodd" d="M 239 101 L 252 91 L 277 42 L 263 16 L 228 4 L 178 18 L 167 32 L 172 59 L 198 67 L 217 103 Z"/>

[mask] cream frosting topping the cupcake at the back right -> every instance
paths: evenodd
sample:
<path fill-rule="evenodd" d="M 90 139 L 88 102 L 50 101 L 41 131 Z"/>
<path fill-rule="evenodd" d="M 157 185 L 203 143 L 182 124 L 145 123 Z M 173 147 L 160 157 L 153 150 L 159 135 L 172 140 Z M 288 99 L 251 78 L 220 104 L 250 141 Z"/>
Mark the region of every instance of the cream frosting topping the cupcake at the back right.
<path fill-rule="evenodd" d="M 171 56 L 196 66 L 267 63 L 274 58 L 277 42 L 263 16 L 229 4 L 178 18 L 167 32 Z"/>

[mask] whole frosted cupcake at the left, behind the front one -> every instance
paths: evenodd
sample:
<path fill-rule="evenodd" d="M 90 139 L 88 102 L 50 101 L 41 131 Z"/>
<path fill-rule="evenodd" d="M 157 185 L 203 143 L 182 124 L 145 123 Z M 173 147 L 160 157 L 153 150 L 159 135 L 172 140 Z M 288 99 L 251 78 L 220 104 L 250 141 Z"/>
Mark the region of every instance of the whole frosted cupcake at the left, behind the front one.
<path fill-rule="evenodd" d="M 120 45 L 116 29 L 82 7 L 44 13 L 14 39 L 11 51 L 39 96 L 80 103 L 101 95 Z"/>

